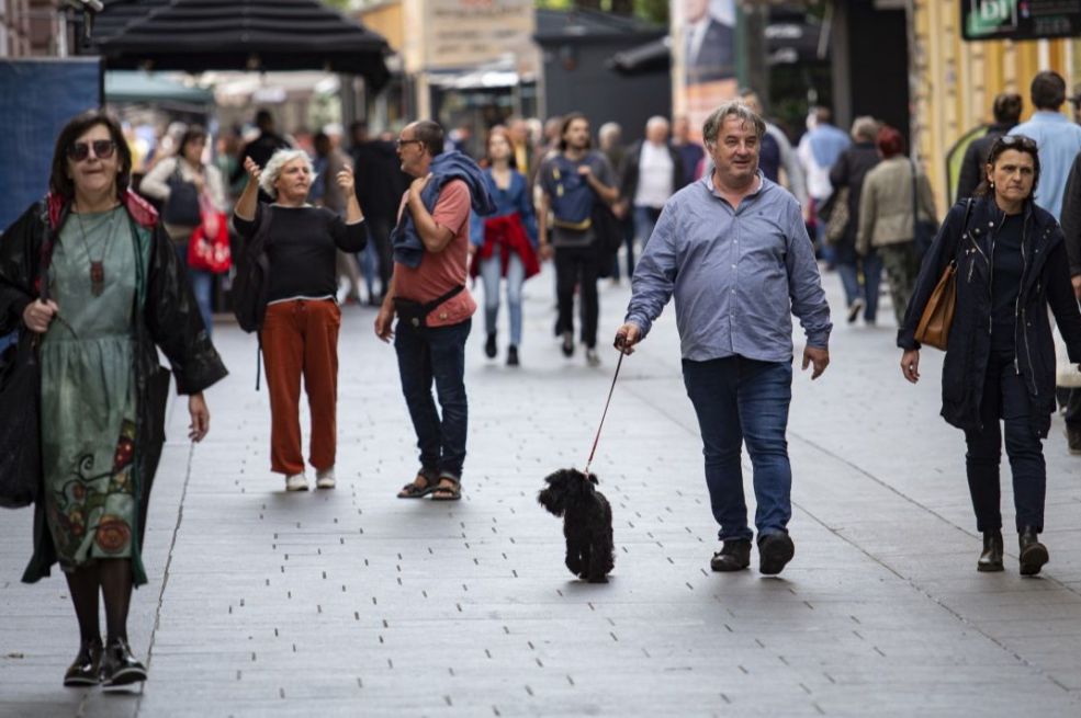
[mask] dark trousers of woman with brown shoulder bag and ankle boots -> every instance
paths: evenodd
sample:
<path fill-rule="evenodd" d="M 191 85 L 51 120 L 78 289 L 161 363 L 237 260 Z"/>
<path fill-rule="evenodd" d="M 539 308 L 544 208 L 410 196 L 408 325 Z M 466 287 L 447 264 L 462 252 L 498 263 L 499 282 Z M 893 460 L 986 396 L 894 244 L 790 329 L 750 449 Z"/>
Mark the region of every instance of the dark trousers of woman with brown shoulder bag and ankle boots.
<path fill-rule="evenodd" d="M 1032 424 L 1025 381 L 1014 367 L 1012 353 L 991 353 L 980 407 L 983 430 L 965 432 L 968 490 L 976 510 L 976 527 L 980 532 L 1002 528 L 999 465 L 1003 433 L 1013 474 L 1016 528 L 1018 532 L 1025 526 L 1034 526 L 1037 532 L 1044 529 L 1047 465 L 1044 445 Z"/>

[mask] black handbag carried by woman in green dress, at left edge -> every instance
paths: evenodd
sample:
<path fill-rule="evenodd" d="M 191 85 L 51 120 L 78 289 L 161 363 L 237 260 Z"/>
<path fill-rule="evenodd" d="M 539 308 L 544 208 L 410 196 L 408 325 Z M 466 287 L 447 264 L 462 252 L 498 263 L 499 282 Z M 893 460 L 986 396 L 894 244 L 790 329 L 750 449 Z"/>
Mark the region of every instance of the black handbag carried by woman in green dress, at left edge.
<path fill-rule="evenodd" d="M 38 335 L 23 330 L 0 354 L 0 506 L 34 502 L 42 480 Z"/>

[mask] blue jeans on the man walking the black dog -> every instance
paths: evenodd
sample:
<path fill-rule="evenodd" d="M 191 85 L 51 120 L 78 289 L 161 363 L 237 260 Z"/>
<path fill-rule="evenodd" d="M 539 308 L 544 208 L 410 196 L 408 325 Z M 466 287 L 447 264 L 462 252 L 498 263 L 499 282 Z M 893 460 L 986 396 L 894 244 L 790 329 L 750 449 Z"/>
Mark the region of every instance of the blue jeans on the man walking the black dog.
<path fill-rule="evenodd" d="M 684 385 L 698 414 L 706 456 L 706 485 L 718 536 L 750 539 L 747 504 L 740 463 L 744 442 L 754 466 L 754 523 L 759 538 L 787 533 L 792 516 L 792 468 L 788 460 L 788 407 L 792 400 L 791 362 L 758 362 L 725 356 L 683 361 Z"/>

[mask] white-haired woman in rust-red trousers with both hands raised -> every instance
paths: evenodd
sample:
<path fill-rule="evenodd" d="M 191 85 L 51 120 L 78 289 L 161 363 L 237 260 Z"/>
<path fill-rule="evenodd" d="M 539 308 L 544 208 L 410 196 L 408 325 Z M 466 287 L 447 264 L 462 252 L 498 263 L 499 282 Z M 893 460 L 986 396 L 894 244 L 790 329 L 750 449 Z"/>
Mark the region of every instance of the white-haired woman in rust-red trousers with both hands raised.
<path fill-rule="evenodd" d="M 342 219 L 326 207 L 308 204 L 315 173 L 305 152 L 278 150 L 266 169 L 249 157 L 244 168 L 248 184 L 236 203 L 234 225 L 249 241 L 263 232 L 270 260 L 260 340 L 270 392 L 271 470 L 285 475 L 288 491 L 307 490 L 299 417 L 303 375 L 312 412 L 309 460 L 316 486 L 333 489 L 341 326 L 335 260 L 337 250 L 359 252 L 368 243 L 352 169 L 346 167 L 335 178 L 348 197 Z M 273 204 L 258 203 L 257 187 L 273 197 Z"/>

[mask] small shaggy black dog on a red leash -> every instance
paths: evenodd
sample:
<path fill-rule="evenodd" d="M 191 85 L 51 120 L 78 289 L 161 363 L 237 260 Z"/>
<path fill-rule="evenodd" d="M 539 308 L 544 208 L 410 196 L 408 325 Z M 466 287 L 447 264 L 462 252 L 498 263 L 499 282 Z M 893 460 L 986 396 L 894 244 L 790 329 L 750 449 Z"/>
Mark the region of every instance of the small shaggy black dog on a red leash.
<path fill-rule="evenodd" d="M 574 469 L 561 469 L 544 479 L 548 488 L 537 501 L 550 513 L 563 517 L 566 537 L 566 567 L 589 583 L 607 583 L 616 565 L 611 537 L 611 505 L 597 491 L 597 477 Z"/>

